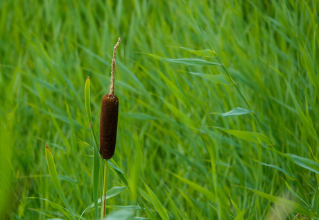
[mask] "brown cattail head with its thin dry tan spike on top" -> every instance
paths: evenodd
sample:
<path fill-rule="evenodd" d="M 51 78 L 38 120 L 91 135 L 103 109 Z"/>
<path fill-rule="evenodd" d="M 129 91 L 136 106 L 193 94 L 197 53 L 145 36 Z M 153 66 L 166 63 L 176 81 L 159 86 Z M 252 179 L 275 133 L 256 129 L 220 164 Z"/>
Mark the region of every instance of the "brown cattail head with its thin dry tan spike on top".
<path fill-rule="evenodd" d="M 114 155 L 115 144 L 117 142 L 117 118 L 119 115 L 119 99 L 114 95 L 116 73 L 115 51 L 119 46 L 119 41 L 114 46 L 113 59 L 112 59 L 112 74 L 110 94 L 105 94 L 102 99 L 101 105 L 101 118 L 100 118 L 100 153 L 104 159 L 110 159 Z"/>

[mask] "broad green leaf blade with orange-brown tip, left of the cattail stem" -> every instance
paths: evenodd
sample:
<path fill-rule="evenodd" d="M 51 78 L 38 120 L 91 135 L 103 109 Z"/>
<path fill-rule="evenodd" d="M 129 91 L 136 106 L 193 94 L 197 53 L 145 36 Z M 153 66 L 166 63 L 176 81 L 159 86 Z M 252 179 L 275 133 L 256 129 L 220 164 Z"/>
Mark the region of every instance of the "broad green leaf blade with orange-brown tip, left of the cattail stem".
<path fill-rule="evenodd" d="M 58 178 L 58 173 L 57 173 L 56 168 L 55 168 L 53 155 L 49 149 L 48 144 L 46 144 L 46 147 L 45 147 L 45 155 L 46 155 L 46 163 L 48 164 L 49 173 L 50 173 L 51 179 L 53 181 L 53 185 L 54 185 L 56 191 L 58 192 L 59 196 L 62 198 L 62 201 L 63 201 L 64 205 L 67 207 L 67 210 L 69 210 L 69 213 L 71 214 L 72 219 L 75 220 L 75 218 L 71 212 L 70 205 L 67 202 L 67 198 L 65 198 L 65 196 L 64 196 L 64 192 L 62 190 L 60 180 Z"/>

